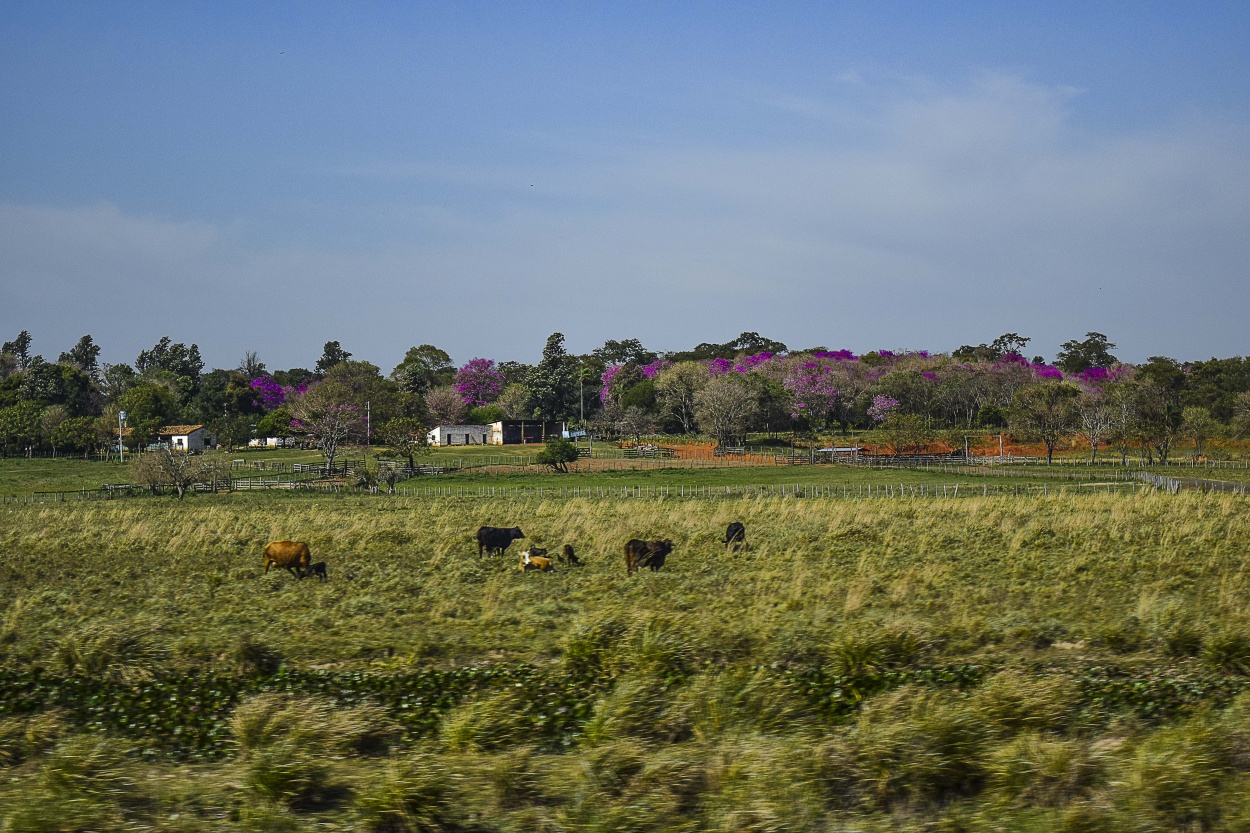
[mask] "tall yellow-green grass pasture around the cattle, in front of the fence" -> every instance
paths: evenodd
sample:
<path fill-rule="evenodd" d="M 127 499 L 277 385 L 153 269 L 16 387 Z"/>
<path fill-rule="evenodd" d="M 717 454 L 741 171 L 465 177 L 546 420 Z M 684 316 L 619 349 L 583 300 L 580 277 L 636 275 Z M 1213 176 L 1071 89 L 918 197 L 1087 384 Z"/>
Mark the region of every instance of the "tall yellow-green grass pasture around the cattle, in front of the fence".
<path fill-rule="evenodd" d="M 0 829 L 1242 830 L 1248 544 L 1200 494 L 5 507 Z"/>

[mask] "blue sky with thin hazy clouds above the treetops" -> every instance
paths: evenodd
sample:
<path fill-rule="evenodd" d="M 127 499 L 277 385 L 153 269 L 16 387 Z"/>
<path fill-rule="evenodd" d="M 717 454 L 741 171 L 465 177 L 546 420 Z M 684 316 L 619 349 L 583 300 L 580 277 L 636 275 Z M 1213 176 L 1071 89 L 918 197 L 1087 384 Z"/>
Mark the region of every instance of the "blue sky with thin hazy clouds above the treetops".
<path fill-rule="evenodd" d="M 6 3 L 0 338 L 1246 350 L 1250 4 Z"/>

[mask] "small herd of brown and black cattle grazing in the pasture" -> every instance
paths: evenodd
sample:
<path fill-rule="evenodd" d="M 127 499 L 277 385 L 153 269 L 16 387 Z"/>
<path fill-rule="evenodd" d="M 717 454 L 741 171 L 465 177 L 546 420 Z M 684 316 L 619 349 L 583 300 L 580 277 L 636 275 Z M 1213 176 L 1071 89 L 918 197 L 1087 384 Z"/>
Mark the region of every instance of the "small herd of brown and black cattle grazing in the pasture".
<path fill-rule="evenodd" d="M 514 540 L 525 538 L 520 527 L 481 527 L 478 530 L 478 555 L 502 555 Z M 746 527 L 736 520 L 725 530 L 725 549 L 729 552 L 745 550 Z M 632 575 L 640 569 L 652 572 L 664 567 L 664 562 L 672 552 L 671 540 L 640 540 L 631 538 L 625 543 L 625 572 Z M 322 582 L 326 580 L 325 562 L 310 563 L 312 554 L 309 545 L 298 540 L 274 540 L 265 544 L 265 572 L 270 567 L 289 570 L 298 579 L 315 575 Z M 538 570 L 540 573 L 554 573 L 556 563 L 565 567 L 580 567 L 581 562 L 572 552 L 572 544 L 565 544 L 559 553 L 549 555 L 541 547 L 530 547 L 521 553 L 520 569 L 524 573 Z"/>

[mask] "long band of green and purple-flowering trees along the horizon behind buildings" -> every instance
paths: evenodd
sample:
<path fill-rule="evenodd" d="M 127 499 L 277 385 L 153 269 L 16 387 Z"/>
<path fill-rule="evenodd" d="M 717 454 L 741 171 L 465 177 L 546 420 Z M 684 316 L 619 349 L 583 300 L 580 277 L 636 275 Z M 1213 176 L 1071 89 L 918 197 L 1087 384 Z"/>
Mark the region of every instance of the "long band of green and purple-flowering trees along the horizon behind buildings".
<path fill-rule="evenodd" d="M 546 339 L 529 365 L 475 356 L 456 366 L 431 345 L 410 348 L 389 373 L 326 341 L 308 368 L 269 370 L 255 351 L 205 370 L 195 344 L 162 336 L 134 364 L 100 363 L 84 335 L 56 361 L 21 331 L 0 345 L 0 454 L 100 452 L 128 413 L 129 443 L 162 425 L 204 424 L 228 448 L 255 437 L 302 435 L 332 462 L 345 444 L 382 440 L 410 464 L 434 424 L 544 419 L 582 423 L 612 438 L 702 434 L 740 443 L 749 433 L 814 438 L 876 429 L 918 452 L 944 433 L 1008 430 L 1040 442 L 1048 458 L 1079 437 L 1096 457 L 1140 449 L 1168 463 L 1221 437 L 1250 435 L 1250 360 L 1121 363 L 1101 333 L 1061 345 L 1054 364 L 1025 358 L 1030 339 L 1006 333 L 948 353 L 824 346 L 790 350 L 758 333 L 659 353 L 638 339 L 570 354 Z M 420 428 L 418 428 L 420 427 Z M 405 437 L 409 438 L 405 440 Z"/>

